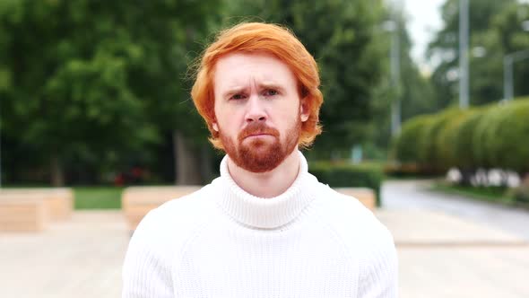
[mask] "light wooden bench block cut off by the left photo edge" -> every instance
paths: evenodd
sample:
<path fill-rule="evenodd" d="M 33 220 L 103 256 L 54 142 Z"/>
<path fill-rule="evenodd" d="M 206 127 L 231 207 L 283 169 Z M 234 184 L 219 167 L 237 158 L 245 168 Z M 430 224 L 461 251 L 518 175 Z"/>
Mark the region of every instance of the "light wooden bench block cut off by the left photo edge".
<path fill-rule="evenodd" d="M 39 232 L 49 220 L 48 204 L 42 195 L 0 196 L 0 232 Z"/>

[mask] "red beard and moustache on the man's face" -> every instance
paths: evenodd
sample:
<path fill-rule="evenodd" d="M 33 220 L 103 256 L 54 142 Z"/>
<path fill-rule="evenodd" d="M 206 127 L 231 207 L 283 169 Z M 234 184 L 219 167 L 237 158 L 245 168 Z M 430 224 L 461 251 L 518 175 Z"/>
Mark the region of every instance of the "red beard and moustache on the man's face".
<path fill-rule="evenodd" d="M 285 142 L 281 143 L 280 133 L 277 129 L 267 127 L 263 122 L 252 122 L 245 127 L 237 137 L 237 145 L 229 136 L 219 132 L 224 151 L 238 167 L 256 173 L 272 171 L 279 166 L 289 154 L 298 146 L 301 120 L 286 131 Z M 246 140 L 247 136 L 265 134 L 273 140 L 256 138 Z M 246 142 L 245 142 L 246 140 Z"/>

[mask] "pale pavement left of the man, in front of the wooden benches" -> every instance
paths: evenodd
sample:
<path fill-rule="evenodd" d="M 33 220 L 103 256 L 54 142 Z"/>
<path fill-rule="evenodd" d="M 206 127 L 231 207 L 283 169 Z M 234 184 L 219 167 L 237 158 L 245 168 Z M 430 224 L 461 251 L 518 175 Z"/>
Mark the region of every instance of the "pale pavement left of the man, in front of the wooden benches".
<path fill-rule="evenodd" d="M 120 297 L 121 212 L 74 212 L 39 233 L 0 233 L 0 297 Z"/>

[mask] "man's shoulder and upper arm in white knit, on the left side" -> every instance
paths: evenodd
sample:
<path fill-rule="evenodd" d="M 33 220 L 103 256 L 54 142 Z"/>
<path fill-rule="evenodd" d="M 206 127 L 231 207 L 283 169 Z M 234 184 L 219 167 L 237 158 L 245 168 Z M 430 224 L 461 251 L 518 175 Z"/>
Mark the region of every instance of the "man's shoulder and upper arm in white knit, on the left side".
<path fill-rule="evenodd" d="M 123 296 L 165 297 L 172 293 L 171 272 L 186 241 L 207 223 L 210 186 L 153 209 L 137 226 L 123 264 Z"/>

